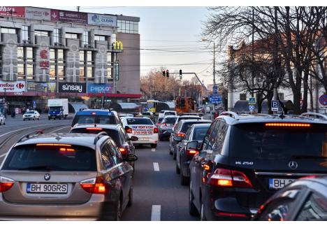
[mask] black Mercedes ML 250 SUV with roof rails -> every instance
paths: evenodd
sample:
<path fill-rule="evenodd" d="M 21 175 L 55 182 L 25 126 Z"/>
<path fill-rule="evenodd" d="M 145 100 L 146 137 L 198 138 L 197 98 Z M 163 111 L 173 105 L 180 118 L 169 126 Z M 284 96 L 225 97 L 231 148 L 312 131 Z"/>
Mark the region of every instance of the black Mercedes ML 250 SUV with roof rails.
<path fill-rule="evenodd" d="M 187 148 L 196 149 L 197 141 Z M 249 220 L 277 190 L 327 174 L 327 122 L 224 112 L 189 166 L 189 213 L 201 220 Z"/>

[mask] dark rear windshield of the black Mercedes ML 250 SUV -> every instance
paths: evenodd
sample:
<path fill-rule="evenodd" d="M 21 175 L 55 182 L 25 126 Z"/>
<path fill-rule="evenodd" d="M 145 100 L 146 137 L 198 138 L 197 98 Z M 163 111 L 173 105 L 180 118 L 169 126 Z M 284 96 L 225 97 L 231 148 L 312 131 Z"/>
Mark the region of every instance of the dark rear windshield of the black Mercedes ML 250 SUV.
<path fill-rule="evenodd" d="M 326 124 L 310 127 L 266 127 L 237 124 L 231 129 L 230 156 L 249 159 L 327 157 Z"/>

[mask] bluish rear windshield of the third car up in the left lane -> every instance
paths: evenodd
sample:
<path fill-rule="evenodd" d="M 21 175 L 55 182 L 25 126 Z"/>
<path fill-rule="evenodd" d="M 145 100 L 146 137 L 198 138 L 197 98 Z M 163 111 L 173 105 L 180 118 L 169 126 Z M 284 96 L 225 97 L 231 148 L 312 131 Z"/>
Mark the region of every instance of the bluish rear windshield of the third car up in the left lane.
<path fill-rule="evenodd" d="M 75 124 L 119 124 L 115 115 L 75 115 L 71 126 Z"/>

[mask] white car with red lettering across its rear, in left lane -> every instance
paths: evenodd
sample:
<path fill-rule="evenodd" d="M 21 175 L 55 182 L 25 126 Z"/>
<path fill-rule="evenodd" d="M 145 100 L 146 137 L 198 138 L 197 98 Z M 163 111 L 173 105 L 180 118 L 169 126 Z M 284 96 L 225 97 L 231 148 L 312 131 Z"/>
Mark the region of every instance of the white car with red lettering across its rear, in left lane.
<path fill-rule="evenodd" d="M 121 120 L 129 138 L 138 137 L 133 144 L 150 144 L 152 148 L 157 148 L 159 129 L 149 117 L 121 117 Z"/>

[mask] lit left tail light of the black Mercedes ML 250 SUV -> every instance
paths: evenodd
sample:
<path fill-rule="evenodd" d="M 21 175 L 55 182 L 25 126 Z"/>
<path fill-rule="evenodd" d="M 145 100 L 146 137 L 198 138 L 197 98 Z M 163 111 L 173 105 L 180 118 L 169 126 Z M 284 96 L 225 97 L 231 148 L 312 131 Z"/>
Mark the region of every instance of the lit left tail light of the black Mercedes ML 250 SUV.
<path fill-rule="evenodd" d="M 245 173 L 230 169 L 216 169 L 208 184 L 218 187 L 252 187 Z"/>

